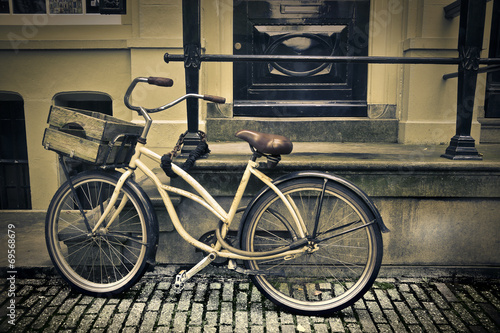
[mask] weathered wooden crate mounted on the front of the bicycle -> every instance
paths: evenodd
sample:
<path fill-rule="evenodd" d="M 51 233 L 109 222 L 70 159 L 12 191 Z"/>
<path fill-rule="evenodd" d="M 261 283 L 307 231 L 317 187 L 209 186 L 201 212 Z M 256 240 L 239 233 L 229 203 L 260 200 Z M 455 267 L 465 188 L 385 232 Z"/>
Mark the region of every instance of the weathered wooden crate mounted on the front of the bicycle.
<path fill-rule="evenodd" d="M 119 139 L 109 151 L 109 143 L 126 133 L 138 137 L 143 126 L 99 112 L 52 106 L 49 127 L 45 129 L 43 146 L 74 159 L 96 165 L 126 164 L 135 140 Z"/>

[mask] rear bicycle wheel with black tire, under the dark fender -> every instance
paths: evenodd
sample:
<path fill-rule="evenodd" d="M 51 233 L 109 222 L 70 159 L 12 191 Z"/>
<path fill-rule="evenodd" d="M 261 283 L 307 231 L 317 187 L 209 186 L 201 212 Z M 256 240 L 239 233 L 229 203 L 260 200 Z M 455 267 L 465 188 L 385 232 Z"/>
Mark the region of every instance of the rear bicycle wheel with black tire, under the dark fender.
<path fill-rule="evenodd" d="M 273 303 L 301 315 L 326 316 L 354 304 L 371 288 L 382 263 L 382 235 L 372 211 L 352 190 L 327 178 L 292 178 L 278 188 L 302 216 L 309 250 L 296 258 L 245 261 L 247 269 L 264 272 L 251 275 L 252 282 Z M 274 191 L 258 199 L 243 223 L 246 251 L 286 246 L 299 235 Z"/>

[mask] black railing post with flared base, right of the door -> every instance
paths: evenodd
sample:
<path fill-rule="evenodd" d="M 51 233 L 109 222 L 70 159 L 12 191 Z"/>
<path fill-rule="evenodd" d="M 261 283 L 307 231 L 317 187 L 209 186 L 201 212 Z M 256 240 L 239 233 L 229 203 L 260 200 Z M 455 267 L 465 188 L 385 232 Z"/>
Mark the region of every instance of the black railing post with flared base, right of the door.
<path fill-rule="evenodd" d="M 485 15 L 486 0 L 461 0 L 456 133 L 441 155 L 453 160 L 482 160 L 471 137 L 471 128 Z"/>

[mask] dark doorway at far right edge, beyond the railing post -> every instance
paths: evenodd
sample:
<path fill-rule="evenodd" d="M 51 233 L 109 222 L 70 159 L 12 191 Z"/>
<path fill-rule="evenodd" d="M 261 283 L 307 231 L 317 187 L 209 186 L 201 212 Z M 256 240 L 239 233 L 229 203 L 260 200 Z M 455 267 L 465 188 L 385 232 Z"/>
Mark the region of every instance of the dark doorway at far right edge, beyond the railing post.
<path fill-rule="evenodd" d="M 490 58 L 500 58 L 500 0 L 493 4 L 491 22 Z M 500 71 L 490 72 L 486 78 L 486 101 L 484 104 L 486 118 L 500 118 Z"/>

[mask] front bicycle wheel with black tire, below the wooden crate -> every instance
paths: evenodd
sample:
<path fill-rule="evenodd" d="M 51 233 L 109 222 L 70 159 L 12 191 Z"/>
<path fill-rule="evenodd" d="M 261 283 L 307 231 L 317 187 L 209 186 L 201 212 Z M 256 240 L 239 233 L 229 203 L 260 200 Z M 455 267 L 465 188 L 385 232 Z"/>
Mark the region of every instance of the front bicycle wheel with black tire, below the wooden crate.
<path fill-rule="evenodd" d="M 84 294 L 119 294 L 133 286 L 154 262 L 158 223 L 151 215 L 154 210 L 149 199 L 132 180 L 125 182 L 104 222 L 109 223 L 119 204 L 124 203 L 108 230 L 101 227 L 94 234 L 88 231 L 79 205 L 93 228 L 109 203 L 119 175 L 81 173 L 71 180 L 74 190 L 69 182 L 61 185 L 47 211 L 45 239 L 52 263 L 73 289 Z"/>

